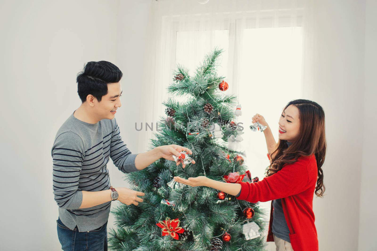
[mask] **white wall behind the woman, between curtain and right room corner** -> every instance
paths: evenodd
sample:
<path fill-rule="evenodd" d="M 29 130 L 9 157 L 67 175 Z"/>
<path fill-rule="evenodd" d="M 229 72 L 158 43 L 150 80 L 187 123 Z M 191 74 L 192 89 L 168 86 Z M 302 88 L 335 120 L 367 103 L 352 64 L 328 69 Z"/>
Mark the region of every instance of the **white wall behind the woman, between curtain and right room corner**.
<path fill-rule="evenodd" d="M 363 135 L 373 126 L 363 118 L 364 106 L 371 102 L 364 102 L 364 64 L 375 67 L 371 60 L 364 61 L 366 6 L 365 1 L 321 0 L 314 8 L 314 86 L 308 97 L 325 110 L 328 143 L 322 167 L 325 197 L 313 202 L 319 250 L 354 251 L 359 237 Z M 366 200 L 373 200 L 369 196 Z"/>

